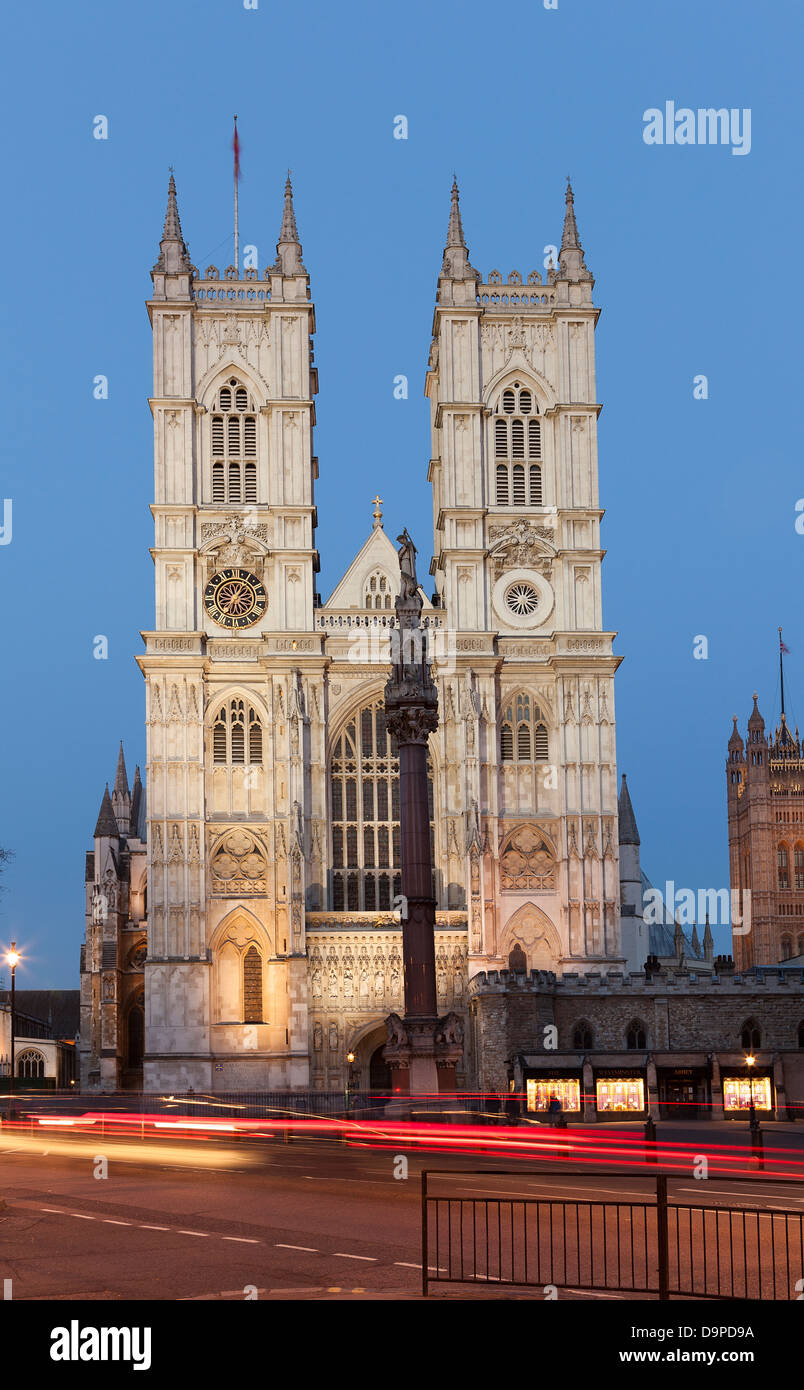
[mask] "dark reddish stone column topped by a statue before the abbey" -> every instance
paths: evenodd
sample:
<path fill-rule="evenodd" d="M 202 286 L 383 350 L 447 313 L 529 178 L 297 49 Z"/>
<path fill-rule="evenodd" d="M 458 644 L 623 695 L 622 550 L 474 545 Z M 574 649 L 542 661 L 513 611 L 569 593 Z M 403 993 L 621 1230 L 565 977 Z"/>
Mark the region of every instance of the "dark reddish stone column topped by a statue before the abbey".
<path fill-rule="evenodd" d="M 395 1073 L 394 1090 L 434 1094 L 455 1086 L 463 1026 L 458 1015 L 438 1019 L 437 1012 L 427 741 L 438 728 L 438 692 L 424 651 L 416 548 L 408 531 L 398 539 L 402 584 L 392 632 L 392 669 L 385 685 L 385 721 L 399 751 L 405 1017 L 392 1013 L 388 1019 L 385 1058 Z"/>

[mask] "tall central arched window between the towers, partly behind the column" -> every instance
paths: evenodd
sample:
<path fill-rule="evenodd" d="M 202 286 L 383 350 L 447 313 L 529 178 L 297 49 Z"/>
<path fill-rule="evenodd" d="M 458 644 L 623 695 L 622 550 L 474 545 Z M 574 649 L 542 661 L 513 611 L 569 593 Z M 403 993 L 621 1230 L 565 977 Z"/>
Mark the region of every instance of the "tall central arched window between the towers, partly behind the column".
<path fill-rule="evenodd" d="M 428 771 L 433 844 L 433 778 Z M 377 699 L 352 716 L 330 764 L 332 909 L 388 912 L 402 891 L 399 753 Z"/>

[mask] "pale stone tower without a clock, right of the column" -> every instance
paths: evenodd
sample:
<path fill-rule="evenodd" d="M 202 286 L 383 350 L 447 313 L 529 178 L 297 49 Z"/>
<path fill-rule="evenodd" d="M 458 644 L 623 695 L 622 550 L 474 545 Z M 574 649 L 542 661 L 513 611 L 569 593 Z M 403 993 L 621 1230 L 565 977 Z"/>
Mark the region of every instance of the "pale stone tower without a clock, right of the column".
<path fill-rule="evenodd" d="M 593 285 L 569 181 L 558 265 L 487 281 L 453 183 L 426 391 L 433 575 L 455 645 L 441 803 L 463 820 L 448 880 L 466 885 L 470 973 L 515 947 L 558 972 L 620 958 Z"/>

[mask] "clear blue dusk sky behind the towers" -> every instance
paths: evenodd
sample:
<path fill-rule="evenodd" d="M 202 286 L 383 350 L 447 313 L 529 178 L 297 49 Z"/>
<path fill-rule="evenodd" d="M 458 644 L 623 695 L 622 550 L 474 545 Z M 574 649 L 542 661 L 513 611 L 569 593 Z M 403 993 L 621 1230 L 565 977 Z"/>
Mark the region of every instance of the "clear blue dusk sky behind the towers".
<path fill-rule="evenodd" d="M 83 852 L 118 739 L 145 760 L 153 624 L 143 302 L 175 167 L 196 264 L 274 254 L 285 170 L 312 274 L 321 591 L 385 500 L 431 545 L 424 367 L 458 172 L 473 263 L 541 268 L 572 174 L 595 275 L 604 616 L 625 656 L 618 760 L 655 883 L 727 884 L 730 716 L 801 717 L 803 17 L 796 0 L 433 7 L 139 0 L 7 15 L 0 498 L 0 947 L 74 987 Z M 751 150 L 648 146 L 643 113 L 751 110 Z M 93 118 L 108 139 L 93 139 Z M 405 114 L 408 140 L 395 140 Z M 395 400 L 394 377 L 410 381 Z M 705 374 L 708 400 L 693 399 Z M 108 399 L 93 399 L 96 374 Z M 1 520 L 1 517 L 0 517 Z M 424 566 L 427 556 L 423 556 Z M 108 660 L 93 659 L 96 634 Z M 693 657 L 705 635 L 707 660 Z M 800 713 L 803 712 L 803 713 Z M 716 940 L 722 949 L 725 938 Z"/>

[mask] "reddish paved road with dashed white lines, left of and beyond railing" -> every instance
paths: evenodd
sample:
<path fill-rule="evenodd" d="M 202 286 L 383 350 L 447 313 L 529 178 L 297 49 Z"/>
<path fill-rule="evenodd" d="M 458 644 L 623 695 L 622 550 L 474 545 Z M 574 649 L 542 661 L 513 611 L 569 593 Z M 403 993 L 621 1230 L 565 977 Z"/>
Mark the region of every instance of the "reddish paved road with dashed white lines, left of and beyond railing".
<path fill-rule="evenodd" d="M 416 1297 L 421 1168 L 458 1169 L 451 1190 L 462 1195 L 502 1188 L 613 1202 L 648 1194 L 648 1182 L 629 1175 L 490 1177 L 477 1173 L 477 1159 L 440 1154 L 410 1156 L 408 1179 L 396 1179 L 392 1152 L 332 1143 L 193 1151 L 92 1141 L 82 1150 L 79 1140 L 38 1136 L 26 1151 L 18 1144 L 0 1131 L 0 1280 L 13 1280 L 14 1298 L 243 1298 L 249 1289 L 260 1297 Z M 93 1176 L 99 1150 L 107 1177 Z M 202 1154 L 220 1166 L 202 1166 Z M 705 1187 L 712 1205 L 732 1202 L 736 1190 L 723 1180 L 676 1186 L 693 1204 Z M 804 1209 L 801 1188 L 778 1183 L 751 1187 L 746 1201 Z"/>

